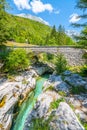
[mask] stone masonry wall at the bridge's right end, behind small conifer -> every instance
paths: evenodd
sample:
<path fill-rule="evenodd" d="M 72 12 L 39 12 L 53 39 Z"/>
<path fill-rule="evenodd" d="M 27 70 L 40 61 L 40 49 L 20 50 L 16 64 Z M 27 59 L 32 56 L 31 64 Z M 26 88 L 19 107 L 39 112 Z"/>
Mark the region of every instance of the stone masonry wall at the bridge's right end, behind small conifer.
<path fill-rule="evenodd" d="M 69 65 L 80 66 L 85 63 L 83 59 L 83 54 L 85 50 L 78 48 L 59 48 L 58 51 L 66 57 Z"/>

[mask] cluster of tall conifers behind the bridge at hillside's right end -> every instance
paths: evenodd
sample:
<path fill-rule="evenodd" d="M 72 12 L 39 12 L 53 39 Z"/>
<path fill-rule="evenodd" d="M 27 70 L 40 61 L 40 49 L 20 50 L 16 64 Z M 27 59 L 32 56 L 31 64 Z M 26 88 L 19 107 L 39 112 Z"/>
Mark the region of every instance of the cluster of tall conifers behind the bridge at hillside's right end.
<path fill-rule="evenodd" d="M 75 42 L 66 35 L 65 29 L 61 25 L 58 30 L 53 26 L 51 33 L 47 34 L 45 43 L 47 45 L 75 45 Z"/>

